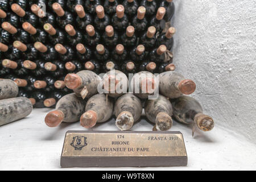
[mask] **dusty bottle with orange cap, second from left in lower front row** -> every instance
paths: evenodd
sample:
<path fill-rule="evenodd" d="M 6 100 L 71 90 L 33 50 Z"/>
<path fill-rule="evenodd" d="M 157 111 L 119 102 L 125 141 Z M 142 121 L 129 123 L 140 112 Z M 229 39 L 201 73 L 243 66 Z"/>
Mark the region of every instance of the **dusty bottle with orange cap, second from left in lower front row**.
<path fill-rule="evenodd" d="M 105 94 L 96 94 L 86 102 L 85 113 L 81 115 L 80 123 L 87 129 L 108 121 L 113 115 L 114 101 Z"/>

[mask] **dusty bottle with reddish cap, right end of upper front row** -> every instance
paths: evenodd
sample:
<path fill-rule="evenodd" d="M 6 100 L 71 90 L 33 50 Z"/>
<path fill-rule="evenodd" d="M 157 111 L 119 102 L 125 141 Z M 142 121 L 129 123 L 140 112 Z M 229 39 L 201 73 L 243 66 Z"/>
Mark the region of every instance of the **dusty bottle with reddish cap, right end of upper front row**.
<path fill-rule="evenodd" d="M 168 98 L 178 98 L 195 92 L 196 84 L 175 71 L 160 73 L 159 92 Z"/>

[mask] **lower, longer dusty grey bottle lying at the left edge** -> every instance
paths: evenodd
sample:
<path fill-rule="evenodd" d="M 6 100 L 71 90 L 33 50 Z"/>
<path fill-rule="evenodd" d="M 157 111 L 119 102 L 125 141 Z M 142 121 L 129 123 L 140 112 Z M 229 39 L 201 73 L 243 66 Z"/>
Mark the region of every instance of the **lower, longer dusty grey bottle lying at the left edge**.
<path fill-rule="evenodd" d="M 0 126 L 27 117 L 32 111 L 31 101 L 26 97 L 0 100 Z"/>

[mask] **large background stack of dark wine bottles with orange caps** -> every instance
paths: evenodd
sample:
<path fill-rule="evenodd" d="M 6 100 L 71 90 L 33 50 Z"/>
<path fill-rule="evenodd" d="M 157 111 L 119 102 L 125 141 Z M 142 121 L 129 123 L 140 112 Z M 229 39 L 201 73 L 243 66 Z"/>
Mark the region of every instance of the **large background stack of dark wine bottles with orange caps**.
<path fill-rule="evenodd" d="M 0 78 L 54 106 L 68 73 L 174 71 L 172 0 L 0 1 Z"/>

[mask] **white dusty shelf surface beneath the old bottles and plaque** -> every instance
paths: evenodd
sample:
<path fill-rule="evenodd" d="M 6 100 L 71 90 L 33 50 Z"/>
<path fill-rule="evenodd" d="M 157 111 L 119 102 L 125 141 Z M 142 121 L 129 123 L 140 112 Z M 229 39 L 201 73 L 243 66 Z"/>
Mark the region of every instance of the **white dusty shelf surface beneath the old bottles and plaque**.
<path fill-rule="evenodd" d="M 49 128 L 44 117 L 51 109 L 34 109 L 27 118 L 0 127 L 0 170 L 255 170 L 256 145 L 245 137 L 216 127 L 209 133 L 174 122 L 171 131 L 181 131 L 188 154 L 187 167 L 158 168 L 60 168 L 60 155 L 65 132 L 86 130 L 80 123 L 62 123 Z M 221 121 L 217 121 L 221 122 Z M 90 130 L 118 131 L 112 119 Z M 151 131 L 145 119 L 134 131 Z M 246 127 L 246 126 L 245 126 Z"/>

